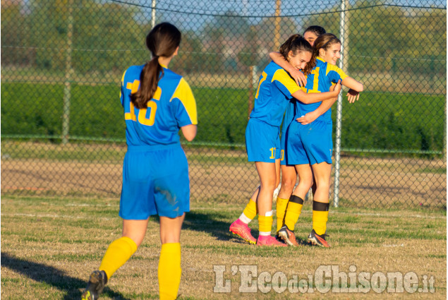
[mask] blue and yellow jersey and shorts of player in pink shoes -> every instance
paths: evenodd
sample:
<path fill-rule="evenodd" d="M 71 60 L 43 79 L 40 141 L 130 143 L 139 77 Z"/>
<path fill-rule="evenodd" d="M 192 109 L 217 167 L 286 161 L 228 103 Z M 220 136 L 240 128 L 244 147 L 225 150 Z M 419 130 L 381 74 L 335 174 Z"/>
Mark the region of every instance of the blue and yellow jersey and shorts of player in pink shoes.
<path fill-rule="evenodd" d="M 280 158 L 279 128 L 292 94 L 300 88 L 281 66 L 270 62 L 262 72 L 255 104 L 246 127 L 249 162 L 275 162 Z"/>

